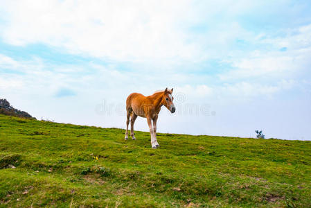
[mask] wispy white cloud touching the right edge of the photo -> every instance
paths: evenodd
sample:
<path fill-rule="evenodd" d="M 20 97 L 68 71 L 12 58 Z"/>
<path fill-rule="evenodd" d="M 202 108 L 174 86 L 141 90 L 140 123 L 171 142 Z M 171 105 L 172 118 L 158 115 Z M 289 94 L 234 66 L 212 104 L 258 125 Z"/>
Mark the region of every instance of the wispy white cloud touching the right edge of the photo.
<path fill-rule="evenodd" d="M 221 80 L 262 78 L 261 82 L 269 78 L 293 78 L 311 64 L 311 24 L 293 29 L 285 37 L 260 37 L 258 41 L 270 44 L 272 51 L 256 50 L 244 58 L 224 60 L 231 64 L 233 69 L 220 74 L 219 78 Z M 283 47 L 286 51 L 279 51 Z"/>

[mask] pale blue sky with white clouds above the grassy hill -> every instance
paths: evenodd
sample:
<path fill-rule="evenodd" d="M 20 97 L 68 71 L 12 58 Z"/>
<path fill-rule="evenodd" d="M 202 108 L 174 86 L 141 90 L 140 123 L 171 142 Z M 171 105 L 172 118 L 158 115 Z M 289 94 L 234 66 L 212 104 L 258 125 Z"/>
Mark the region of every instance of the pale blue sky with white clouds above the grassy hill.
<path fill-rule="evenodd" d="M 37 119 L 125 128 L 129 94 L 169 87 L 177 112 L 162 107 L 158 132 L 311 140 L 310 11 L 299 0 L 0 0 L 0 98 Z"/>

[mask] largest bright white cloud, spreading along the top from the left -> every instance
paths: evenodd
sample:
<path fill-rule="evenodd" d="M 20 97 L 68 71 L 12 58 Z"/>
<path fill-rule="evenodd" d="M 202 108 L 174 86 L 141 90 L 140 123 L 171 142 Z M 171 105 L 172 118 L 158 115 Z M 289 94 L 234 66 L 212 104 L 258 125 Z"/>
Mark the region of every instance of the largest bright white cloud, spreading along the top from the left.
<path fill-rule="evenodd" d="M 42 43 L 106 60 L 178 67 L 222 57 L 236 38 L 254 39 L 236 17 L 267 2 L 6 1 L 1 37 L 18 46 Z M 193 33 L 202 25 L 206 32 Z"/>

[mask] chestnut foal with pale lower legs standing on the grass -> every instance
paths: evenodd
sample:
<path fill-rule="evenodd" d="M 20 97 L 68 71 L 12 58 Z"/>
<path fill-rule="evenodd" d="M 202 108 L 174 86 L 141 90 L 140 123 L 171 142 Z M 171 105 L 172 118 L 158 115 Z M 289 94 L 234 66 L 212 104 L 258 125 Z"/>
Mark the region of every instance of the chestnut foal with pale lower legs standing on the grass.
<path fill-rule="evenodd" d="M 160 92 L 155 92 L 150 96 L 143 96 L 139 93 L 132 93 L 126 99 L 126 131 L 125 140 L 128 139 L 127 131 L 130 123 L 131 117 L 131 137 L 136 139 L 134 136 L 134 123 L 137 116 L 141 116 L 147 119 L 150 136 L 151 136 L 151 146 L 153 149 L 159 147 L 157 141 L 157 119 L 158 114 L 161 110 L 162 105 L 164 105 L 171 113 L 174 113 L 176 108 L 173 103 L 174 98 L 172 97 L 172 90 L 166 87 L 165 90 Z M 152 123 L 153 121 L 153 128 Z"/>

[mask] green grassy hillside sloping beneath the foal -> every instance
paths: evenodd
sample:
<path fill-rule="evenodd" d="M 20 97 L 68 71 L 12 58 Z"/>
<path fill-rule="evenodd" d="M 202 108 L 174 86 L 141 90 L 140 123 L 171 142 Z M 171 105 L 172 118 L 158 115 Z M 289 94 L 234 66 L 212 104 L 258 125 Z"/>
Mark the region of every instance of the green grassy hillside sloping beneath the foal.
<path fill-rule="evenodd" d="M 310 207 L 311 142 L 0 115 L 0 207 Z"/>

